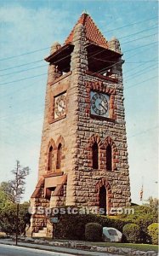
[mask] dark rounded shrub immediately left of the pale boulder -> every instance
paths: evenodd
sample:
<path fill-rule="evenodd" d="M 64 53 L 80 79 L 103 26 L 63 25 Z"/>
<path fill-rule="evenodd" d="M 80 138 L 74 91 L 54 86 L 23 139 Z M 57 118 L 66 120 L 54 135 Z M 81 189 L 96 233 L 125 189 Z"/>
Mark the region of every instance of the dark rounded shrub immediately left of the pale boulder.
<path fill-rule="evenodd" d="M 102 241 L 103 227 L 98 223 L 88 223 L 85 226 L 86 241 Z"/>

